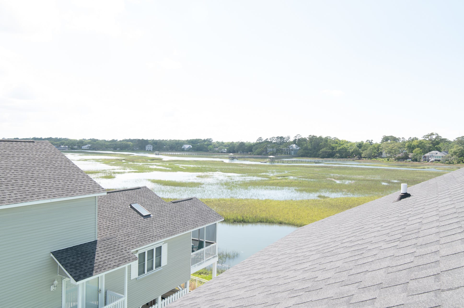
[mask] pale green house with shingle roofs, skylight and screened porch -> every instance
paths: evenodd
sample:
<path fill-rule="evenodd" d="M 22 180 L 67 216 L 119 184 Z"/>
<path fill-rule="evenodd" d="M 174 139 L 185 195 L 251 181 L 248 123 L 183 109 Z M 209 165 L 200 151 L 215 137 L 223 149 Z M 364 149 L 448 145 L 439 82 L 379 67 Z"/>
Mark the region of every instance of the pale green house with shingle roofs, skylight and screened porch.
<path fill-rule="evenodd" d="M 215 276 L 223 218 L 196 198 L 107 192 L 48 141 L 6 139 L 0 191 L 1 307 L 159 308 Z"/>

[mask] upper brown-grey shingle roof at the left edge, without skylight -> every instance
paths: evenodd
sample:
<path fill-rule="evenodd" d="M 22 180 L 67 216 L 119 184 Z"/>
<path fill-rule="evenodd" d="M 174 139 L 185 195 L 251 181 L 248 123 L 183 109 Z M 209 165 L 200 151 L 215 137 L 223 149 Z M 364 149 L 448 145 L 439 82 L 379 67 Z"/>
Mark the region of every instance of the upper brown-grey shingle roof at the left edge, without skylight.
<path fill-rule="evenodd" d="M 0 139 L 0 206 L 105 190 L 48 141 Z"/>

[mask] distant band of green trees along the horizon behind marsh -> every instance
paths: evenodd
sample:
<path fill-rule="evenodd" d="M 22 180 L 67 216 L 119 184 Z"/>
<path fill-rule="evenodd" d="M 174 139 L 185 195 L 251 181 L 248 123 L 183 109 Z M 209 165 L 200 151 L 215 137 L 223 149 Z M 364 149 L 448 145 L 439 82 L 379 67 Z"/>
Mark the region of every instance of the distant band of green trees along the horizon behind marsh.
<path fill-rule="evenodd" d="M 69 138 L 31 138 L 33 140 L 48 140 L 55 146 L 68 146 L 70 149 L 81 149 L 84 145 L 91 145 L 94 150 L 125 150 L 144 151 L 146 145 L 153 145 L 153 151 L 186 151 L 183 145 L 192 145 L 188 151 L 247 153 L 253 155 L 278 155 L 286 153 L 290 145 L 297 145 L 300 157 L 320 158 L 368 158 L 382 156 L 387 159 L 407 159 L 420 161 L 422 155 L 430 151 L 448 151 L 449 155 L 442 159 L 442 163 L 464 162 L 464 136 L 454 140 L 441 137 L 431 132 L 422 138 L 402 138 L 395 136 L 382 136 L 380 143 L 373 140 L 352 142 L 336 137 L 322 137 L 309 135 L 303 137 L 296 135 L 277 136 L 271 138 L 259 137 L 255 142 L 243 141 L 213 141 L 207 139 L 69 139 Z"/>

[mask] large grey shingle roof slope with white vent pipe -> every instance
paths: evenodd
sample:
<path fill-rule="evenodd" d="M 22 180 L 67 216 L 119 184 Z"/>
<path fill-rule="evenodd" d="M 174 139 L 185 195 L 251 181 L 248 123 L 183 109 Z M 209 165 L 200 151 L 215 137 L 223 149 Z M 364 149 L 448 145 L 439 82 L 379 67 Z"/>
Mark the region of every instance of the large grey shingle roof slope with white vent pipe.
<path fill-rule="evenodd" d="M 463 187 L 464 168 L 303 226 L 170 305 L 464 307 Z"/>

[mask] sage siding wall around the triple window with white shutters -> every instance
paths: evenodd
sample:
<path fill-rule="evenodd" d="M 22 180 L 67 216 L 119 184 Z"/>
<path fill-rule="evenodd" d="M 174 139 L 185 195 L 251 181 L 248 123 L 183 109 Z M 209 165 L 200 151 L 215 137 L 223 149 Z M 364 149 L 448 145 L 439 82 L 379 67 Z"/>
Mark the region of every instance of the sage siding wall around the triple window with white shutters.
<path fill-rule="evenodd" d="M 179 235 L 168 243 L 168 264 L 140 279 L 128 277 L 128 306 L 138 308 L 190 279 L 191 234 Z"/>

